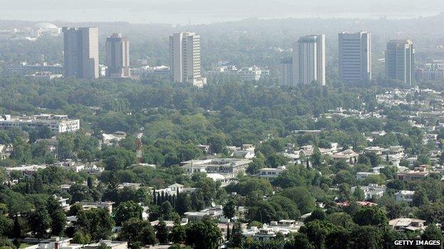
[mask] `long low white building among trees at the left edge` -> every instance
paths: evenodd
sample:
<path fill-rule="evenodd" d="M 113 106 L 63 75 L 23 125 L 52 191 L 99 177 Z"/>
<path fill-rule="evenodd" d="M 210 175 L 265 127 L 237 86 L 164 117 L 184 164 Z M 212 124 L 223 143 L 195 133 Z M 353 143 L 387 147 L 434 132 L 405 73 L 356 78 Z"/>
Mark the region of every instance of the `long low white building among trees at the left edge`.
<path fill-rule="evenodd" d="M 77 131 L 80 128 L 78 119 L 69 119 L 66 115 L 40 114 L 33 116 L 0 116 L 0 128 L 39 128 L 46 126 L 53 133 Z"/>

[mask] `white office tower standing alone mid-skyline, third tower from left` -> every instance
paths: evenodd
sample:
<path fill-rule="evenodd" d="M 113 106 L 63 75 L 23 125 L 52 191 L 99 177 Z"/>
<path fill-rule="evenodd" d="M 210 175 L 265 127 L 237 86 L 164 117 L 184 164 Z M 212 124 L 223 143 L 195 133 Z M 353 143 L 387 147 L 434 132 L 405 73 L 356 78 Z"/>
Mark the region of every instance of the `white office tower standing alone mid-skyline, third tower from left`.
<path fill-rule="evenodd" d="M 203 87 L 206 78 L 201 77 L 200 36 L 181 32 L 169 37 L 171 78 L 173 82 L 187 82 Z"/>

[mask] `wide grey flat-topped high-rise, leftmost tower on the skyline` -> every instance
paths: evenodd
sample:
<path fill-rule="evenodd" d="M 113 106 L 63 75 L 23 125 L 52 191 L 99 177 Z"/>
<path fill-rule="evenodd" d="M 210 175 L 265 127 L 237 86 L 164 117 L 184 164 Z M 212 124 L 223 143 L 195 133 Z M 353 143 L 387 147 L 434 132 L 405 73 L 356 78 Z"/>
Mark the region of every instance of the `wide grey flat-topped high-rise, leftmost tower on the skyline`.
<path fill-rule="evenodd" d="M 65 77 L 99 77 L 99 29 L 63 27 Z"/>

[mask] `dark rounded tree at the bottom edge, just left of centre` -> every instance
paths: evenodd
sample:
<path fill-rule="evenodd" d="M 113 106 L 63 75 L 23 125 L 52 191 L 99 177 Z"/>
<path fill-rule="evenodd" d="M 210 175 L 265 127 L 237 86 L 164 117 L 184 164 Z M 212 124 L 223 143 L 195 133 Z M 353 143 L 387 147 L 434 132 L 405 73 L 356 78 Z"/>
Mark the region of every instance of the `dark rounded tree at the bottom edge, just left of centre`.
<path fill-rule="evenodd" d="M 186 228 L 186 245 L 195 249 L 216 249 L 221 245 L 222 234 L 211 219 L 191 223 Z"/>

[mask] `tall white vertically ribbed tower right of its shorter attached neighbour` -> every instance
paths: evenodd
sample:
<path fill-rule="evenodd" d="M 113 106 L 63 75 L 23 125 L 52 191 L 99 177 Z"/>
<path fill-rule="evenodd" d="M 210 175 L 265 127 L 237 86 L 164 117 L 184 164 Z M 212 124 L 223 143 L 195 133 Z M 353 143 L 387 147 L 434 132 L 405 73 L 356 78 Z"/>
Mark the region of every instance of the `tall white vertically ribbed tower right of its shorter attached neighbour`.
<path fill-rule="evenodd" d="M 325 35 L 306 35 L 293 43 L 293 81 L 325 85 Z"/>

